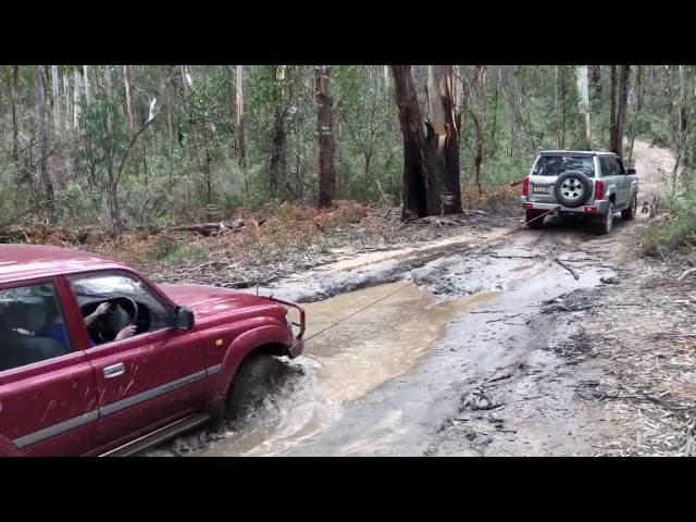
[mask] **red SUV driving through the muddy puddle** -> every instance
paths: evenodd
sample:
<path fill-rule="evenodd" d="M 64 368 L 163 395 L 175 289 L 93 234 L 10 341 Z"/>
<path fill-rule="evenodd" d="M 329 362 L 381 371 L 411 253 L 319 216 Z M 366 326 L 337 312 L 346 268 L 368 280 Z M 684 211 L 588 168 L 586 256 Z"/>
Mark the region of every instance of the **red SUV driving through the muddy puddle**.
<path fill-rule="evenodd" d="M 221 421 L 243 374 L 299 356 L 303 333 L 291 302 L 0 246 L 0 456 L 132 455 Z"/>

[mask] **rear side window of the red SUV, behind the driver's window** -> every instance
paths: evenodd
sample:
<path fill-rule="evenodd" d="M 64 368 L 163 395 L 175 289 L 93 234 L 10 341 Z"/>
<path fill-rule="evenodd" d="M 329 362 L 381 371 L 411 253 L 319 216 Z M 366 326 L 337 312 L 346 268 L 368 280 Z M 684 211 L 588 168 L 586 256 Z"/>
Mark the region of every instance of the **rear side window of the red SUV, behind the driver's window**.
<path fill-rule="evenodd" d="M 52 284 L 0 290 L 0 372 L 71 351 Z"/>

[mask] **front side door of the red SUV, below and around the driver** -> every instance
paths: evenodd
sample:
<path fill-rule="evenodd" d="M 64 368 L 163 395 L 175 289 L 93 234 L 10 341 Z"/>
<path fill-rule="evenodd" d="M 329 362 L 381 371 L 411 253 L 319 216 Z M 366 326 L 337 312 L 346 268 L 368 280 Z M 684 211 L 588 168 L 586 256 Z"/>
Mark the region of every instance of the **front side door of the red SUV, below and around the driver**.
<path fill-rule="evenodd" d="M 173 326 L 173 309 L 147 282 L 125 271 L 70 278 L 83 313 L 96 303 L 127 297 L 138 306 L 139 330 L 122 340 L 82 336 L 99 388 L 102 449 L 202 409 L 204 353 L 198 335 Z M 97 343 L 95 343 L 97 340 Z"/>

